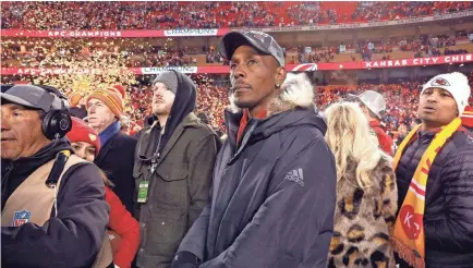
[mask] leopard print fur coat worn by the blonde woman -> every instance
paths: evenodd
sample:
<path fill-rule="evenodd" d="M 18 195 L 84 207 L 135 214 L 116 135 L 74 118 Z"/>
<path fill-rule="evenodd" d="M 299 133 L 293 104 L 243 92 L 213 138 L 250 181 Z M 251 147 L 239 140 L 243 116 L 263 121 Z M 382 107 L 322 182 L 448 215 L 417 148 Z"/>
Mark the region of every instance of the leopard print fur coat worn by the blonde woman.
<path fill-rule="evenodd" d="M 328 267 L 396 267 L 390 234 L 398 190 L 391 162 L 381 158 L 372 172 L 374 184 L 361 188 L 355 165 L 337 184 L 337 207 Z"/>

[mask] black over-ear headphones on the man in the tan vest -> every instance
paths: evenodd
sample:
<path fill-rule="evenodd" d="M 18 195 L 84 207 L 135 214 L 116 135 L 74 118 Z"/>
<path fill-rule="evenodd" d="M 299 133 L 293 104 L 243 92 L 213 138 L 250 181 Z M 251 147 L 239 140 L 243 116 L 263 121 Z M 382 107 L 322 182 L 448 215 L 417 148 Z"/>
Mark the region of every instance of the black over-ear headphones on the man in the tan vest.
<path fill-rule="evenodd" d="M 68 97 L 58 89 L 47 85 L 35 85 L 50 93 L 53 98 L 50 103 L 46 103 L 49 110 L 46 112 L 41 122 L 43 133 L 52 141 L 61 138 L 72 129 L 72 120 Z"/>

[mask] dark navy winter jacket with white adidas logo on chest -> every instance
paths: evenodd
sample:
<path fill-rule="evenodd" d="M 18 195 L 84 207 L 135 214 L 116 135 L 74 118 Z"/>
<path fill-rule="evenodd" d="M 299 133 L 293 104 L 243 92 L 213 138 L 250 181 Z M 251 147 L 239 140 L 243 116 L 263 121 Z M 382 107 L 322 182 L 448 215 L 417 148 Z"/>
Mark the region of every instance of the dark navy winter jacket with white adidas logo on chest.
<path fill-rule="evenodd" d="M 201 268 L 326 267 L 337 178 L 325 122 L 313 108 L 251 119 L 237 147 L 241 115 L 227 112 L 211 205 L 179 252 Z"/>

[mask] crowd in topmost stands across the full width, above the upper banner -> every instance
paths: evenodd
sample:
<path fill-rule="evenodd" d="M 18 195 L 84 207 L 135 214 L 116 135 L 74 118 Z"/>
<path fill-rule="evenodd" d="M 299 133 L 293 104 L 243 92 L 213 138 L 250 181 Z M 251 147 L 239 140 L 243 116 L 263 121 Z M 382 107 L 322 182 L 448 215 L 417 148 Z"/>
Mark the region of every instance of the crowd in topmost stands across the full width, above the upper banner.
<path fill-rule="evenodd" d="M 444 14 L 473 2 L 2 2 L 1 28 L 167 29 L 361 23 Z"/>

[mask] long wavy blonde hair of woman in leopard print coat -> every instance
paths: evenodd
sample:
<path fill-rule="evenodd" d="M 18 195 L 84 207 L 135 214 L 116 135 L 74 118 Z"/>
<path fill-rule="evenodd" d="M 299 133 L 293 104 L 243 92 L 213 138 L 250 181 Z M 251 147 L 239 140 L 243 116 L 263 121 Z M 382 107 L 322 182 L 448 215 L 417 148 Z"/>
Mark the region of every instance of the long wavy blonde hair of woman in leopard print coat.
<path fill-rule="evenodd" d="M 337 102 L 327 108 L 326 115 L 328 130 L 325 139 L 335 155 L 337 182 L 344 176 L 349 165 L 355 165 L 359 186 L 372 186 L 372 171 L 381 157 L 390 157 L 379 149 L 376 133 L 369 127 L 362 109 L 355 102 Z"/>

